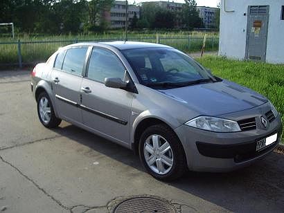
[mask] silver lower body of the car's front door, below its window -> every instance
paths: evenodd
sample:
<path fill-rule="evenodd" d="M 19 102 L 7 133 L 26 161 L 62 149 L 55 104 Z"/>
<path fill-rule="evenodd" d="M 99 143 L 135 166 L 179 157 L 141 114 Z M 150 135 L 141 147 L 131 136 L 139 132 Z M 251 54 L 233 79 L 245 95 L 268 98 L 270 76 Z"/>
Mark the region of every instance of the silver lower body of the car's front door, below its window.
<path fill-rule="evenodd" d="M 82 88 L 82 117 L 87 127 L 121 142 L 129 142 L 130 115 L 133 94 L 112 89 L 100 82 L 84 78 Z"/>

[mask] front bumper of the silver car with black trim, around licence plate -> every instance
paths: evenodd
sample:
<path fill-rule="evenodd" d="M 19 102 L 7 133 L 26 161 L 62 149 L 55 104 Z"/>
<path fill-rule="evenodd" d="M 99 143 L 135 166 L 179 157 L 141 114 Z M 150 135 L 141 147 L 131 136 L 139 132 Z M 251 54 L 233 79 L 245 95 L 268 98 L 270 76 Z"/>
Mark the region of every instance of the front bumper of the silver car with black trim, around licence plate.
<path fill-rule="evenodd" d="M 175 129 L 186 153 L 188 168 L 199 172 L 229 172 L 263 158 L 281 140 L 281 116 L 269 128 L 236 133 L 215 133 L 186 125 Z M 276 142 L 256 151 L 256 142 L 278 133 Z"/>

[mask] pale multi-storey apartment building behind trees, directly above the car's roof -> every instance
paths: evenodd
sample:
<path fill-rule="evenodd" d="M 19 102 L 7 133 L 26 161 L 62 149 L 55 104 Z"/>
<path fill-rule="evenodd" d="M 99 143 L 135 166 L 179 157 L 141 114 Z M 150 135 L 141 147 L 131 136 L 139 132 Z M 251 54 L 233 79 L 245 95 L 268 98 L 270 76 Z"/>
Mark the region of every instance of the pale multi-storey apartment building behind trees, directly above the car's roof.
<path fill-rule="evenodd" d="M 128 5 L 128 25 L 136 14 L 137 18 L 140 17 L 139 6 Z M 114 5 L 110 9 L 109 19 L 111 28 L 123 28 L 125 27 L 125 16 L 126 16 L 126 1 L 115 1 Z"/>

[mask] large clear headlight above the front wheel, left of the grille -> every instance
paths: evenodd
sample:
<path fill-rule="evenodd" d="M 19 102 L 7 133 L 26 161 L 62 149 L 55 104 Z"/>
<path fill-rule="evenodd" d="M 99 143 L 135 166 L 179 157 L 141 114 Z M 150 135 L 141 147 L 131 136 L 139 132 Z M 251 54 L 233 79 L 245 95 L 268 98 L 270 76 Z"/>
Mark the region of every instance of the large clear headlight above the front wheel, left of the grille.
<path fill-rule="evenodd" d="M 199 116 L 186 122 L 189 127 L 204 129 L 216 132 L 236 132 L 241 131 L 238 122 L 223 118 L 214 118 L 209 116 Z"/>

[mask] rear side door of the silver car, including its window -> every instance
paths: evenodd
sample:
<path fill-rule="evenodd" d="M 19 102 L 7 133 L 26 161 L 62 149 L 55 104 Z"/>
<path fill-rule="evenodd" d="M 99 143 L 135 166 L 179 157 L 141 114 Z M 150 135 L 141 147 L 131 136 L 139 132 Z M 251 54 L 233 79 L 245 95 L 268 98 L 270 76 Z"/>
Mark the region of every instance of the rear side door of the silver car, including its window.
<path fill-rule="evenodd" d="M 60 118 L 70 122 L 82 123 L 80 85 L 87 50 L 87 47 L 76 47 L 62 51 L 51 73 L 55 107 Z"/>

